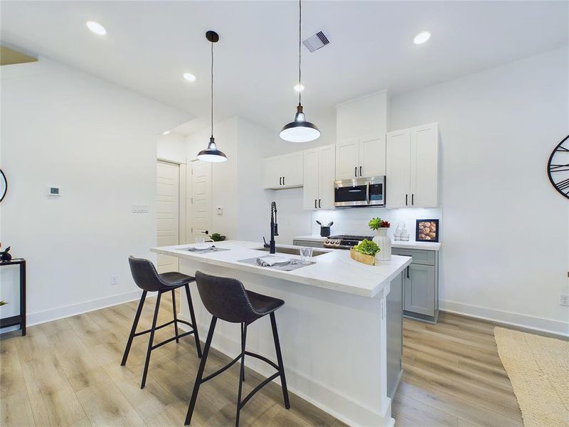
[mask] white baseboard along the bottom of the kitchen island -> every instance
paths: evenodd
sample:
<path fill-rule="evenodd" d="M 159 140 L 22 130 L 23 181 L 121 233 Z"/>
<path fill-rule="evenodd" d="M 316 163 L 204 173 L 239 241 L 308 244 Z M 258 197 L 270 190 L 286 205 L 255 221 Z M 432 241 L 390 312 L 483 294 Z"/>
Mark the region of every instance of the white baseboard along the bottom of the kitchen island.
<path fill-rule="evenodd" d="M 181 313 L 178 313 L 178 318 L 181 320 L 186 320 L 186 322 L 191 322 L 188 317 Z M 184 324 L 180 324 L 179 327 L 182 330 L 190 329 L 187 325 Z M 207 331 L 209 329 L 209 325 L 198 324 L 198 328 L 201 331 Z M 216 344 L 216 341 L 217 345 L 214 345 Z M 226 335 L 218 334 L 217 332 L 214 336 L 213 344 L 211 345 L 212 348 L 218 350 L 219 352 L 222 352 L 225 355 L 229 355 L 228 352 L 234 355 L 239 354 L 241 350 L 240 346 L 240 342 L 231 337 L 227 337 Z M 269 367 L 269 365 L 266 365 L 265 362 L 260 362 L 259 360 L 252 357 L 248 358 L 246 366 L 247 369 L 252 369 L 253 371 L 257 372 L 257 374 L 260 374 L 262 376 L 270 376 L 274 373 L 274 369 L 272 367 Z M 350 396 L 346 396 L 344 394 L 338 393 L 337 391 L 331 390 L 326 385 L 309 378 L 306 374 L 303 374 L 296 369 L 286 367 L 286 361 L 285 373 L 287 376 L 287 389 L 289 391 L 296 394 L 301 399 L 304 399 L 305 401 L 313 404 L 314 406 L 317 406 L 317 408 L 320 408 L 322 411 L 329 413 L 331 416 L 334 416 L 340 421 L 348 424 L 349 426 L 368 427 L 381 425 L 392 427 L 395 423 L 395 420 L 390 416 L 391 399 L 389 398 L 388 404 L 385 405 L 384 408 L 381 408 L 381 411 L 378 411 L 375 408 L 362 406 L 358 402 L 353 401 Z M 275 378 L 273 382 L 276 382 L 280 385 L 280 378 Z M 302 387 L 304 389 L 310 390 L 310 396 L 292 384 L 302 384 Z M 344 411 L 342 412 L 357 414 L 357 416 L 354 416 L 353 418 L 366 421 L 356 422 L 353 418 L 344 416 L 344 414 L 339 413 L 334 408 L 344 408 Z"/>

